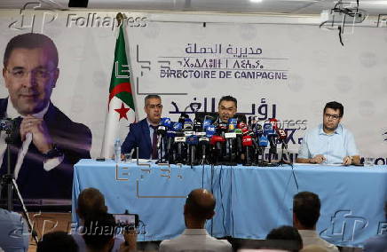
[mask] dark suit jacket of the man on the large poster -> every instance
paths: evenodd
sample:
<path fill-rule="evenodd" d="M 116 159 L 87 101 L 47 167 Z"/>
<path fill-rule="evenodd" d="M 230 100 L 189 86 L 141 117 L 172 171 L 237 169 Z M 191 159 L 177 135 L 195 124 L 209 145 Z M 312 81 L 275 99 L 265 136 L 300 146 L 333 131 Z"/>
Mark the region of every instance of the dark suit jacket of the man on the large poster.
<path fill-rule="evenodd" d="M 0 99 L 0 118 L 5 116 L 7 103 L 7 98 Z M 91 158 L 91 130 L 82 123 L 71 121 L 52 103 L 44 114 L 43 120 L 53 143 L 64 154 L 64 160 L 57 167 L 46 171 L 43 169 L 43 154 L 31 142 L 16 182 L 23 198 L 71 199 L 73 166 L 80 159 Z M 19 149 L 13 150 L 16 156 L 18 151 Z M 7 171 L 5 163 L 6 154 L 4 154 L 0 175 Z"/>

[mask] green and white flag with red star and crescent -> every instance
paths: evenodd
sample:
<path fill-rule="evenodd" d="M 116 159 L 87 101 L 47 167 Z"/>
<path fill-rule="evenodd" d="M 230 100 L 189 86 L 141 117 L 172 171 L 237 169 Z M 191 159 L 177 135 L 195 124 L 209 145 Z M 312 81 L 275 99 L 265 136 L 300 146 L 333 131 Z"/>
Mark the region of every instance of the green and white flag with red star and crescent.
<path fill-rule="evenodd" d="M 114 154 L 115 139 L 122 141 L 129 131 L 129 124 L 135 122 L 133 93 L 130 87 L 130 67 L 125 51 L 123 28 L 115 42 L 115 62 L 109 88 L 109 103 L 105 122 L 105 135 L 101 156 L 111 158 Z"/>

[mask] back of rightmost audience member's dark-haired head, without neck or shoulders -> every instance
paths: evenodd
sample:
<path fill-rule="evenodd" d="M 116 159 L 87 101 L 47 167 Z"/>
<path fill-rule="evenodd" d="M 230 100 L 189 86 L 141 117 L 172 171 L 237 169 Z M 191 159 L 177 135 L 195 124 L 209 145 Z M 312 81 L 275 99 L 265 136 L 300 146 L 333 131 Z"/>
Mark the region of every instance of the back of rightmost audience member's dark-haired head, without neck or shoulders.
<path fill-rule="evenodd" d="M 313 229 L 320 217 L 319 195 L 311 192 L 297 193 L 293 197 L 293 214 L 307 229 Z"/>

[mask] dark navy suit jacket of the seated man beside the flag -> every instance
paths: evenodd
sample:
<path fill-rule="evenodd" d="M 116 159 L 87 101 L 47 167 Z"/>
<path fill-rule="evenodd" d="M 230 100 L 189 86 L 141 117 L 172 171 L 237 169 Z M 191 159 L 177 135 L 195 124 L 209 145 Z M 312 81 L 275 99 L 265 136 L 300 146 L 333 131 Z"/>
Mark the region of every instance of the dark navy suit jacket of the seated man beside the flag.
<path fill-rule="evenodd" d="M 131 123 L 129 126 L 129 133 L 123 141 L 121 146 L 122 154 L 130 153 L 132 148 L 138 147 L 138 158 L 150 159 L 152 155 L 152 144 L 149 136 L 149 125 L 146 118 L 137 123 Z M 136 152 L 133 158 L 137 157 Z"/>

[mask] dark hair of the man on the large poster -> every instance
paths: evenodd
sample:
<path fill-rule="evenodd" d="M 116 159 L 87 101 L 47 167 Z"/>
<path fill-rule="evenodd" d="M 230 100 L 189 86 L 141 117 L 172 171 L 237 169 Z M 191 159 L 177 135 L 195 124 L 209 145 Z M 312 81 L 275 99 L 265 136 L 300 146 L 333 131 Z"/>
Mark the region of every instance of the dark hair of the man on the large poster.
<path fill-rule="evenodd" d="M 53 43 L 50 37 L 37 33 L 26 33 L 12 37 L 5 47 L 4 67 L 7 66 L 12 51 L 20 48 L 28 50 L 42 48 L 51 56 L 54 66 L 58 67 L 58 50 L 55 43 Z"/>

